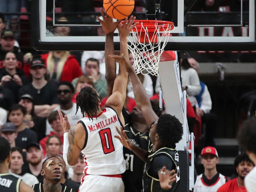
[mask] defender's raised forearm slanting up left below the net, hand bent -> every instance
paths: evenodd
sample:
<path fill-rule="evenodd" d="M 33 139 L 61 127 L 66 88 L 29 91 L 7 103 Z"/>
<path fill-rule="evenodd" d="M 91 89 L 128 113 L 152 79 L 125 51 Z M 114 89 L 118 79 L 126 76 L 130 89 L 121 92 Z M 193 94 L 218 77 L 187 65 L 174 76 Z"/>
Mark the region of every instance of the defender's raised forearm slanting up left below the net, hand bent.
<path fill-rule="evenodd" d="M 150 127 L 151 124 L 158 119 L 158 116 L 152 109 L 152 106 L 148 98 L 148 95 L 145 91 L 145 88 L 143 87 L 139 77 L 136 75 L 134 68 L 124 56 L 111 55 L 110 57 L 118 61 L 121 66 L 122 65 L 125 66 L 132 80 L 132 87 L 133 87 L 136 105 L 142 111 L 143 116 L 145 117 L 147 124 Z"/>

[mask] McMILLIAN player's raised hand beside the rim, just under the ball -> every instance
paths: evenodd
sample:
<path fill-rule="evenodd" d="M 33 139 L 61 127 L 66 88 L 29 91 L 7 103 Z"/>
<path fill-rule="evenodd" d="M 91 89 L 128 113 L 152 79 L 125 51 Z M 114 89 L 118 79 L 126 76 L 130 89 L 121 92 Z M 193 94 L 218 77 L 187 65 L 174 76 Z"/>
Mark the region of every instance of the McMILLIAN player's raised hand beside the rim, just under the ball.
<path fill-rule="evenodd" d="M 126 17 L 124 19 L 124 23 L 119 23 L 117 29 L 119 32 L 119 36 L 120 37 L 127 37 L 129 35 L 129 33 L 131 32 L 132 28 L 134 28 L 139 22 L 134 23 L 134 20 L 136 19 L 136 17 L 133 17 L 131 15 L 131 17 L 128 18 Z"/>

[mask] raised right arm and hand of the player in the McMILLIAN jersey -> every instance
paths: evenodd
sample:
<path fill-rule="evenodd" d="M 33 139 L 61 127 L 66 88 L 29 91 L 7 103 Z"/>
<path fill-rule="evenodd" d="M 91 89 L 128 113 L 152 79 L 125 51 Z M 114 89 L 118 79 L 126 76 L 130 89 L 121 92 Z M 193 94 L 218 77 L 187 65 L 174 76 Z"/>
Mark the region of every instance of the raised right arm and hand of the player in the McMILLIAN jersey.
<path fill-rule="evenodd" d="M 120 54 L 128 57 L 128 44 L 127 36 L 129 35 L 132 28 L 137 25 L 133 24 L 135 17 L 131 16 L 129 20 L 126 18 L 124 24 L 119 23 L 118 31 L 120 37 Z M 124 106 L 124 101 L 126 99 L 126 89 L 128 83 L 128 73 L 126 71 L 125 65 L 119 65 L 119 74 L 116 76 L 113 93 L 106 101 L 106 106 L 112 107 L 116 110 L 118 116 L 120 117 L 122 123 L 124 124 L 124 118 L 121 116 L 122 108 Z"/>

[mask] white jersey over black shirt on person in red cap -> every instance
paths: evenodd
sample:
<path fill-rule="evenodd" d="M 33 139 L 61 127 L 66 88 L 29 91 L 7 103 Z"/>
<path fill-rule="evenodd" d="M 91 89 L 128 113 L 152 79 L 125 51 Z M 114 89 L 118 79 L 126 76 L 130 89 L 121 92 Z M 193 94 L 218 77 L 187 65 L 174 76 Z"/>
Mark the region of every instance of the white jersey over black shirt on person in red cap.
<path fill-rule="evenodd" d="M 216 182 L 207 185 L 203 178 L 203 174 L 198 175 L 196 178 L 196 183 L 194 186 L 194 192 L 216 192 L 220 186 L 226 183 L 226 177 L 224 175 L 219 174 L 219 178 Z"/>

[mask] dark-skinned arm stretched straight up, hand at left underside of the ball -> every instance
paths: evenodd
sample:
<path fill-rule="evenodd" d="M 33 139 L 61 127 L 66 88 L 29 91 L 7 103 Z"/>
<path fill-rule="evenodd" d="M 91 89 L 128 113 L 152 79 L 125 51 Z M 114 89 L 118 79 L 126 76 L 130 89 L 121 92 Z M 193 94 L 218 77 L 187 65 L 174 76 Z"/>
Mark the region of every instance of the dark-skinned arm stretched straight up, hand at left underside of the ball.
<path fill-rule="evenodd" d="M 107 80 L 108 86 L 108 97 L 112 94 L 114 81 L 116 78 L 116 61 L 110 59 L 108 55 L 114 54 L 114 31 L 116 30 L 118 24 L 121 20 L 117 20 L 116 22 L 113 21 L 113 18 L 109 17 L 107 14 L 103 12 L 103 9 L 100 9 L 101 16 L 103 20 L 99 17 L 97 19 L 100 21 L 102 26 L 102 30 L 106 35 L 106 42 L 105 42 L 105 66 L 106 66 L 106 75 L 105 78 Z"/>

